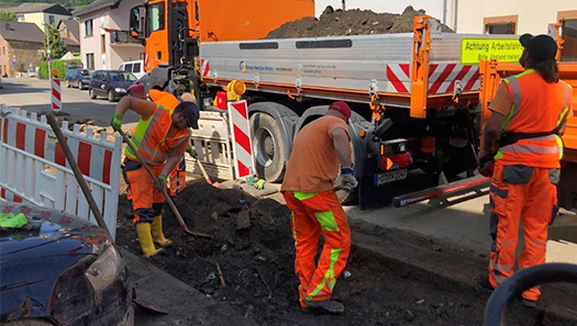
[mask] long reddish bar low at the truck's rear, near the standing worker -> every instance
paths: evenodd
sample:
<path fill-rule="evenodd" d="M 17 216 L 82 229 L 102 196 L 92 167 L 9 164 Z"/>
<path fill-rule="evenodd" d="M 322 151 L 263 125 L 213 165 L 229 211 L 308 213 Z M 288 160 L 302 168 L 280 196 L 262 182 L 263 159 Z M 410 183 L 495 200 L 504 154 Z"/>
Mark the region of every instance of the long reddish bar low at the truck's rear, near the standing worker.
<path fill-rule="evenodd" d="M 451 182 L 448 184 L 433 187 L 421 191 L 415 191 L 412 193 L 396 196 L 392 199 L 392 205 L 396 209 L 400 209 L 410 204 L 434 199 L 437 196 L 450 198 L 454 195 L 464 194 L 470 191 L 477 191 L 478 194 L 481 195 L 482 193 L 480 192 L 480 190 L 482 188 L 489 187 L 490 183 L 490 178 L 485 178 L 480 176 L 467 178 L 459 181 Z"/>

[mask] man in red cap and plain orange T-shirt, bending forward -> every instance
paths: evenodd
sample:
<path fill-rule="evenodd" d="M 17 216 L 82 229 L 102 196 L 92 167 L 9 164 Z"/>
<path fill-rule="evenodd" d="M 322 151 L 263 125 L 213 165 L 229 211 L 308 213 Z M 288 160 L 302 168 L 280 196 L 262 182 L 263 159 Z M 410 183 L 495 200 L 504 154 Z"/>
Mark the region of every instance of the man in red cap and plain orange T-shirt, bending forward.
<path fill-rule="evenodd" d="M 343 189 L 351 191 L 357 186 L 352 166 L 349 117 L 351 108 L 337 101 L 324 116 L 299 132 L 280 188 L 292 212 L 295 272 L 300 280 L 299 302 L 304 312 L 344 312 L 343 304 L 332 301 L 331 294 L 351 250 L 351 229 L 334 190 L 339 171 Z M 321 234 L 324 247 L 315 265 Z"/>

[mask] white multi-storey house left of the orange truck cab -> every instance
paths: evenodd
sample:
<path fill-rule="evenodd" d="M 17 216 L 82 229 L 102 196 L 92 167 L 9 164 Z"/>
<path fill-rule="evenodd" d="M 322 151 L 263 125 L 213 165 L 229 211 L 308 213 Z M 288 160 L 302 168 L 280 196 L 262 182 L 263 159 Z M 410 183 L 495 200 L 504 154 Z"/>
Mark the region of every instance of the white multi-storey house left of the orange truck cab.
<path fill-rule="evenodd" d="M 144 46 L 129 33 L 129 13 L 142 0 L 97 0 L 74 11 L 80 22 L 80 54 L 87 69 L 118 69 L 144 58 Z"/>

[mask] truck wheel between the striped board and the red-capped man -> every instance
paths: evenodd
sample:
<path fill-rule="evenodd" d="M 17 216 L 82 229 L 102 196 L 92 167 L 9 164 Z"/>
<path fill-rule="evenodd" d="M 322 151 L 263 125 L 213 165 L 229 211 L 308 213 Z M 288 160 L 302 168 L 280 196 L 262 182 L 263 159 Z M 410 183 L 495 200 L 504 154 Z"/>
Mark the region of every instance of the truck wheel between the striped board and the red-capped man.
<path fill-rule="evenodd" d="M 267 182 L 277 182 L 285 175 L 285 139 L 277 121 L 266 113 L 251 116 L 256 173 Z"/>

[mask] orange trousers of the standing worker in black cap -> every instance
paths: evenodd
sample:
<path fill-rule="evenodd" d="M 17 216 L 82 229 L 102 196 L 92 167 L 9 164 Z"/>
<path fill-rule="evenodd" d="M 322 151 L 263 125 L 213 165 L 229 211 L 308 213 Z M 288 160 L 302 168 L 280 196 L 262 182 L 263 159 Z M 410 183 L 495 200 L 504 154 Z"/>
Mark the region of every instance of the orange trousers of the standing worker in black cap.
<path fill-rule="evenodd" d="M 497 288 L 511 277 L 515 265 L 519 224 L 523 221 L 524 249 L 517 261 L 519 269 L 545 262 L 548 225 L 557 214 L 558 169 L 503 166 L 495 164 L 490 199 L 490 233 L 493 239 L 489 262 L 489 282 Z M 536 301 L 539 288 L 523 292 Z"/>

